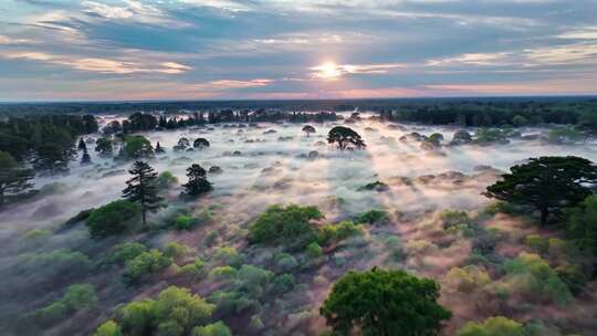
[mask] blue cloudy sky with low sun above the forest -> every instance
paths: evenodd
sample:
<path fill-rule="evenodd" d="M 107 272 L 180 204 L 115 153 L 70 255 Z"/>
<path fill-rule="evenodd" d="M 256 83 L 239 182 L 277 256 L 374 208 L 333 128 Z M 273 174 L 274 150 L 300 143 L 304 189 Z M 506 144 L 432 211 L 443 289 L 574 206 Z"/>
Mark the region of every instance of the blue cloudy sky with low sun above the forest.
<path fill-rule="evenodd" d="M 0 0 L 0 101 L 597 94 L 596 0 Z"/>

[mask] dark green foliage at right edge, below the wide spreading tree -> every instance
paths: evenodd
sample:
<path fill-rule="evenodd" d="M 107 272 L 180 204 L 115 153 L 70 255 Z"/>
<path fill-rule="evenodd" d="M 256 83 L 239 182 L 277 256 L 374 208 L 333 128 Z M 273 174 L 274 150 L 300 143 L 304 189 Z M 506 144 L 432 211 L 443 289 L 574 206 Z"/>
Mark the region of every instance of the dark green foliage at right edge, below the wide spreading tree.
<path fill-rule="evenodd" d="M 568 237 L 582 250 L 597 255 L 597 196 L 587 197 L 568 214 Z"/>

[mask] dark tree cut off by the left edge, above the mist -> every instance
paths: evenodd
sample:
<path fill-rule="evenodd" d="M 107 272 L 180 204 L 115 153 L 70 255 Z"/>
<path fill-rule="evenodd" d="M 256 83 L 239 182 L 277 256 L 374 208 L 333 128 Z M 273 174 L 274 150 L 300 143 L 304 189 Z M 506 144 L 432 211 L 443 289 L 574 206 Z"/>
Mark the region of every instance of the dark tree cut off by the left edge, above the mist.
<path fill-rule="evenodd" d="M 22 168 L 9 153 L 0 151 L 0 209 L 7 193 L 17 195 L 32 187 L 30 169 Z"/>

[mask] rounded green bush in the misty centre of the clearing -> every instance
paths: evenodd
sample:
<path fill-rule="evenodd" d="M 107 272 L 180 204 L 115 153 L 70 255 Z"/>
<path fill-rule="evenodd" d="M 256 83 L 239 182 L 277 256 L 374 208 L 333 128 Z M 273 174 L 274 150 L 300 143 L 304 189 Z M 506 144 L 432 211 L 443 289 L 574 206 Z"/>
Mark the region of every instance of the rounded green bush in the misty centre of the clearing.
<path fill-rule="evenodd" d="M 322 218 L 316 207 L 272 206 L 249 227 L 249 239 L 253 243 L 305 246 L 317 234 L 310 221 Z"/>

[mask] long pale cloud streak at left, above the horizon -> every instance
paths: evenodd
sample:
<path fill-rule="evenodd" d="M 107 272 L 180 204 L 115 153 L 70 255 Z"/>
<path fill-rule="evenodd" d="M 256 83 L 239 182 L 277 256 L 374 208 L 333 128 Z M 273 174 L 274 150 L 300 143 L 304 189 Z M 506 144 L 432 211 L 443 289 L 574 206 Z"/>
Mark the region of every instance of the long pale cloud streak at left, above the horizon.
<path fill-rule="evenodd" d="M 44 62 L 66 66 L 83 72 L 103 74 L 135 74 L 135 73 L 161 73 L 178 74 L 191 70 L 191 67 L 175 62 L 161 62 L 158 64 L 144 64 L 139 61 L 128 62 L 100 57 L 76 57 L 71 55 L 56 55 L 43 52 L 8 52 L 0 53 L 0 57 L 9 60 L 25 60 Z"/>

